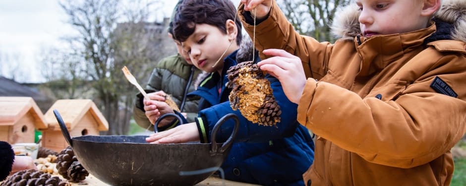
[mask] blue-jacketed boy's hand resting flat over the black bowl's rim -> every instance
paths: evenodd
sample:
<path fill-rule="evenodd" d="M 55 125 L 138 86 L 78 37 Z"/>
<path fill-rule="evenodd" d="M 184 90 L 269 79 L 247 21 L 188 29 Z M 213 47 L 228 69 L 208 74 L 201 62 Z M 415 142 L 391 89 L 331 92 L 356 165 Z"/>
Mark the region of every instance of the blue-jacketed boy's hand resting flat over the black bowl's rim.
<path fill-rule="evenodd" d="M 170 130 L 153 133 L 146 138 L 149 143 L 185 143 L 199 141 L 196 123 L 181 124 Z"/>

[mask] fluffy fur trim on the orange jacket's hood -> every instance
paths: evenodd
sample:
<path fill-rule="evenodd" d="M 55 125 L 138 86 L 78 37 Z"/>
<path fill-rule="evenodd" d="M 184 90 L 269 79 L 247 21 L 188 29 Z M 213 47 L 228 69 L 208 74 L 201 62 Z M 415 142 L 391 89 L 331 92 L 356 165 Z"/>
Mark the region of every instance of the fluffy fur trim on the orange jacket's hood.
<path fill-rule="evenodd" d="M 359 27 L 359 11 L 355 3 L 345 6 L 335 13 L 331 32 L 336 38 L 353 40 L 361 34 Z M 466 42 L 466 3 L 465 0 L 443 0 L 442 7 L 432 19 L 439 27 L 439 22 L 449 24 L 447 33 L 450 39 Z M 443 26 L 445 27 L 445 26 Z"/>

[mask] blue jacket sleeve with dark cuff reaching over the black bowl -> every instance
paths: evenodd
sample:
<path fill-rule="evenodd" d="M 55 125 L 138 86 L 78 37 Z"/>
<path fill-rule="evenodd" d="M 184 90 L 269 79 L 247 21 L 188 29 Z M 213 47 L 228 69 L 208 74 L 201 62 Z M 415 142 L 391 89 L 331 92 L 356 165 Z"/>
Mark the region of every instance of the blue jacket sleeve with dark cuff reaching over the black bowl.
<path fill-rule="evenodd" d="M 227 101 L 200 112 L 200 117 L 196 119 L 196 124 L 199 127 L 201 142 L 209 142 L 211 140 L 210 131 L 212 131 L 217 121 L 229 113 L 234 113 L 239 118 L 239 130 L 234 138 L 235 142 L 265 142 L 270 139 L 292 136 L 299 125 L 296 121 L 297 105 L 287 99 L 280 81 L 270 75 L 267 78 L 271 82 L 273 94 L 282 110 L 280 123 L 277 123 L 276 126 L 253 124 L 246 120 L 239 110 L 233 111 L 230 102 Z M 225 124 L 222 124 L 217 134 L 217 141 L 226 141 L 233 132 L 233 126 L 233 120 L 227 120 Z"/>

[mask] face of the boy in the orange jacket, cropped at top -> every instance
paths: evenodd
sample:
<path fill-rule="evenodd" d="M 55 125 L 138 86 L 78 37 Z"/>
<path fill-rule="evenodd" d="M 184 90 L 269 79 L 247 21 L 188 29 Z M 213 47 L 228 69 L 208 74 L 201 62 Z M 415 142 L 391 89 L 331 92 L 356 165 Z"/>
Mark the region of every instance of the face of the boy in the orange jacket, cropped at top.
<path fill-rule="evenodd" d="M 363 36 L 408 33 L 427 27 L 424 0 L 356 0 Z"/>

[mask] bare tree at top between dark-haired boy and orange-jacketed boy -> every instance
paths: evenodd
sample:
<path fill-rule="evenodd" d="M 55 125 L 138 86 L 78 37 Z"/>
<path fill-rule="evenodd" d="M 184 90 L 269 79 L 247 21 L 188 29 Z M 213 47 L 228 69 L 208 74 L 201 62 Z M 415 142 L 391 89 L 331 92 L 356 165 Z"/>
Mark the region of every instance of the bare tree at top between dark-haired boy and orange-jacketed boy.
<path fill-rule="evenodd" d="M 283 12 L 303 35 L 319 41 L 334 41 L 330 34 L 330 23 L 338 7 L 347 5 L 350 0 L 282 0 Z"/>

